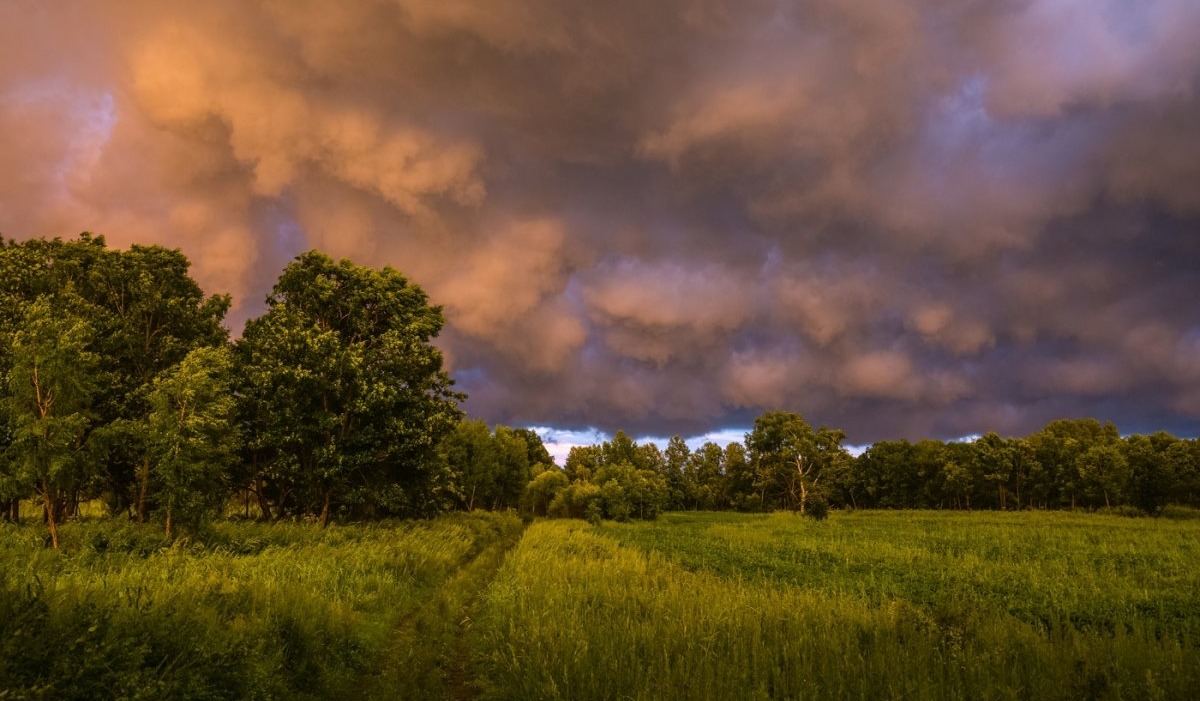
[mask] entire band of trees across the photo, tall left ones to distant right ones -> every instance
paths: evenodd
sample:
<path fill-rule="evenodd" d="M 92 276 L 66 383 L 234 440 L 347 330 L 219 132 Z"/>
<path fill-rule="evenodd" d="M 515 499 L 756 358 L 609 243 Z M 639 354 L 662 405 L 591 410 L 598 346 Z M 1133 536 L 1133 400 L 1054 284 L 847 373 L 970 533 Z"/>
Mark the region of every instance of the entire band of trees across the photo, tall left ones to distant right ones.
<path fill-rule="evenodd" d="M 744 443 L 666 450 L 618 432 L 553 465 L 536 433 L 463 417 L 432 346 L 444 318 L 390 268 L 308 252 L 235 342 L 227 295 L 179 251 L 0 239 L 0 513 L 49 544 L 86 502 L 194 531 L 236 501 L 264 520 L 450 509 L 653 519 L 678 509 L 1200 507 L 1200 444 L 1054 421 L 1025 438 L 881 442 L 802 415 Z"/>

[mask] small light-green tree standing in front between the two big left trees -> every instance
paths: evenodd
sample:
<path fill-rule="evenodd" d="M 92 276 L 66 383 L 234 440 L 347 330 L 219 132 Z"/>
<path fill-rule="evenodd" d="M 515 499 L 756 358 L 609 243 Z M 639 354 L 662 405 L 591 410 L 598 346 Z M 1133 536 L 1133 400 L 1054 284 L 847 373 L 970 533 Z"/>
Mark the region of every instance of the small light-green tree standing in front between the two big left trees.
<path fill-rule="evenodd" d="M 194 528 L 224 503 L 239 449 L 232 371 L 228 348 L 197 348 L 151 388 L 146 430 L 168 538 L 174 523 Z"/>

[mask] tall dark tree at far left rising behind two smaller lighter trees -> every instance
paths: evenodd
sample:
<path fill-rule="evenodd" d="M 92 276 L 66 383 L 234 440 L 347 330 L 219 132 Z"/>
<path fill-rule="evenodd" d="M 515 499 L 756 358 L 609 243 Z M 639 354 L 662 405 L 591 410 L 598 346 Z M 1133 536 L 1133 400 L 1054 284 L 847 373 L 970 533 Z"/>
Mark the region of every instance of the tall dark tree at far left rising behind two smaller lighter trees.
<path fill-rule="evenodd" d="M 96 381 L 89 441 L 97 478 L 89 496 L 103 495 L 113 511 L 132 505 L 145 519 L 149 444 L 134 430 L 150 411 L 154 378 L 193 348 L 221 346 L 228 295 L 205 296 L 179 251 L 160 246 L 106 247 L 103 236 L 0 241 L 0 371 L 12 366 L 13 335 L 36 299 L 71 290 L 89 305 Z M 0 437 L 2 439 L 4 437 Z"/>

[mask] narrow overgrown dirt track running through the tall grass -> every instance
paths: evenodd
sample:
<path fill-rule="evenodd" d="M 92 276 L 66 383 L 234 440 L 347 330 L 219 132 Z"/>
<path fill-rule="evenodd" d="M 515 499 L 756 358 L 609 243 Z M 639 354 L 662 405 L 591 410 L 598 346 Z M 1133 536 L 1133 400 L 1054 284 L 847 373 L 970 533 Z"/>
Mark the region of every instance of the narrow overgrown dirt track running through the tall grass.
<path fill-rule="evenodd" d="M 392 633 L 384 669 L 355 701 L 474 699 L 467 631 L 480 597 L 521 535 L 520 529 L 503 534 L 404 618 Z"/>

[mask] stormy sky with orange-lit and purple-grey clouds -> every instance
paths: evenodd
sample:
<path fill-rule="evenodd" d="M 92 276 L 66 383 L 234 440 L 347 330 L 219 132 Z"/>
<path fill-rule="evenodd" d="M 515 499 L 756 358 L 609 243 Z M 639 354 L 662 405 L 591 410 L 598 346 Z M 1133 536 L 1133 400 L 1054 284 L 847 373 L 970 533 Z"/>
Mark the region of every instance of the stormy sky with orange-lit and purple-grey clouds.
<path fill-rule="evenodd" d="M 0 233 L 319 248 L 466 411 L 1200 432 L 1195 0 L 2 0 Z M 564 433 L 565 436 L 566 433 Z"/>

